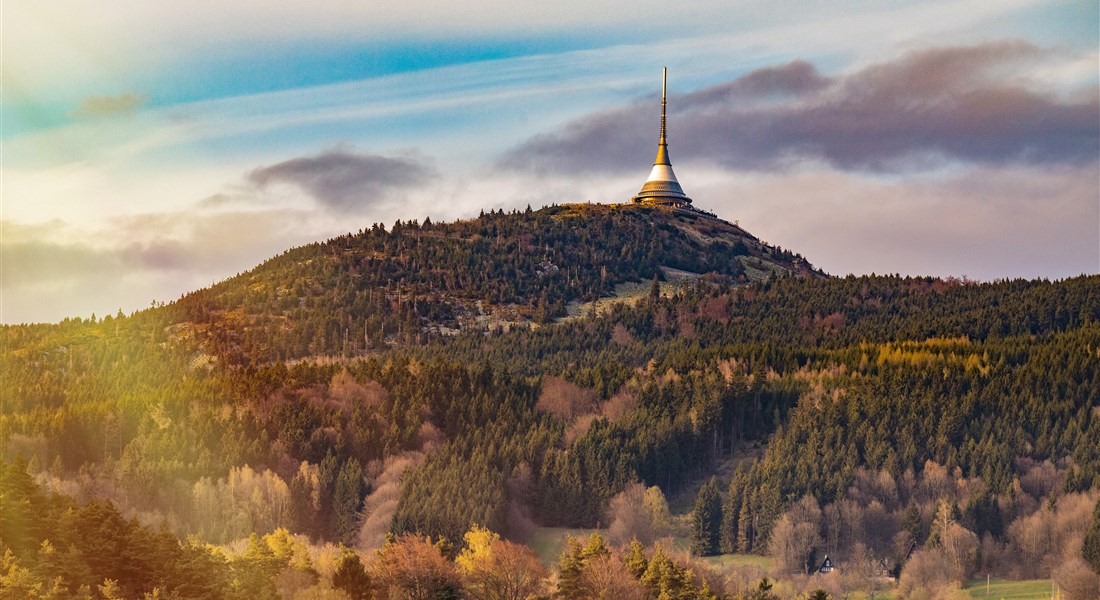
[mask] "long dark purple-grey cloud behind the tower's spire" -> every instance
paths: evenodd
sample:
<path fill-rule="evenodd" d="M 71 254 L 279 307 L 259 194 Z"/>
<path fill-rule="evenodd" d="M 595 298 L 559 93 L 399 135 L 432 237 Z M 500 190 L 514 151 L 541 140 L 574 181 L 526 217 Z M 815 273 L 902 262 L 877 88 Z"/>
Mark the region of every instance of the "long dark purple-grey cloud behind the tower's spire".
<path fill-rule="evenodd" d="M 795 61 L 670 101 L 673 160 L 783 171 L 824 163 L 908 172 L 949 161 L 1085 164 L 1100 155 L 1100 89 L 1028 77 L 1055 61 L 1025 42 L 924 50 L 826 76 Z M 636 170 L 654 151 L 656 100 L 574 121 L 504 155 L 505 167 Z"/>

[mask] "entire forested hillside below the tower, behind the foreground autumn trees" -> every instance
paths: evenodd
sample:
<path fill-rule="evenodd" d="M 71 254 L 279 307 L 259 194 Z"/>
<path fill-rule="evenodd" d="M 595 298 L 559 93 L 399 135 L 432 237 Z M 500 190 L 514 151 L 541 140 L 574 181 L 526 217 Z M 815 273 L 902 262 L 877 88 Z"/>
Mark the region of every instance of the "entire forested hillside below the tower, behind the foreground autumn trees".
<path fill-rule="evenodd" d="M 475 524 L 623 542 L 686 533 L 666 497 L 714 473 L 703 554 L 816 532 L 774 556 L 785 577 L 817 550 L 894 560 L 965 531 L 982 552 L 957 579 L 978 559 L 1046 577 L 1100 490 L 1100 276 L 826 277 L 698 212 L 375 226 L 0 341 L 6 568 L 50 572 L 53 539 L 88 556 L 73 590 L 154 583 L 97 567 L 62 514 L 194 536 L 168 553 L 194 560 L 250 534 L 286 549 L 279 528 L 362 550 L 387 533 L 461 545 Z M 275 578 L 232 575 L 253 576 Z"/>

